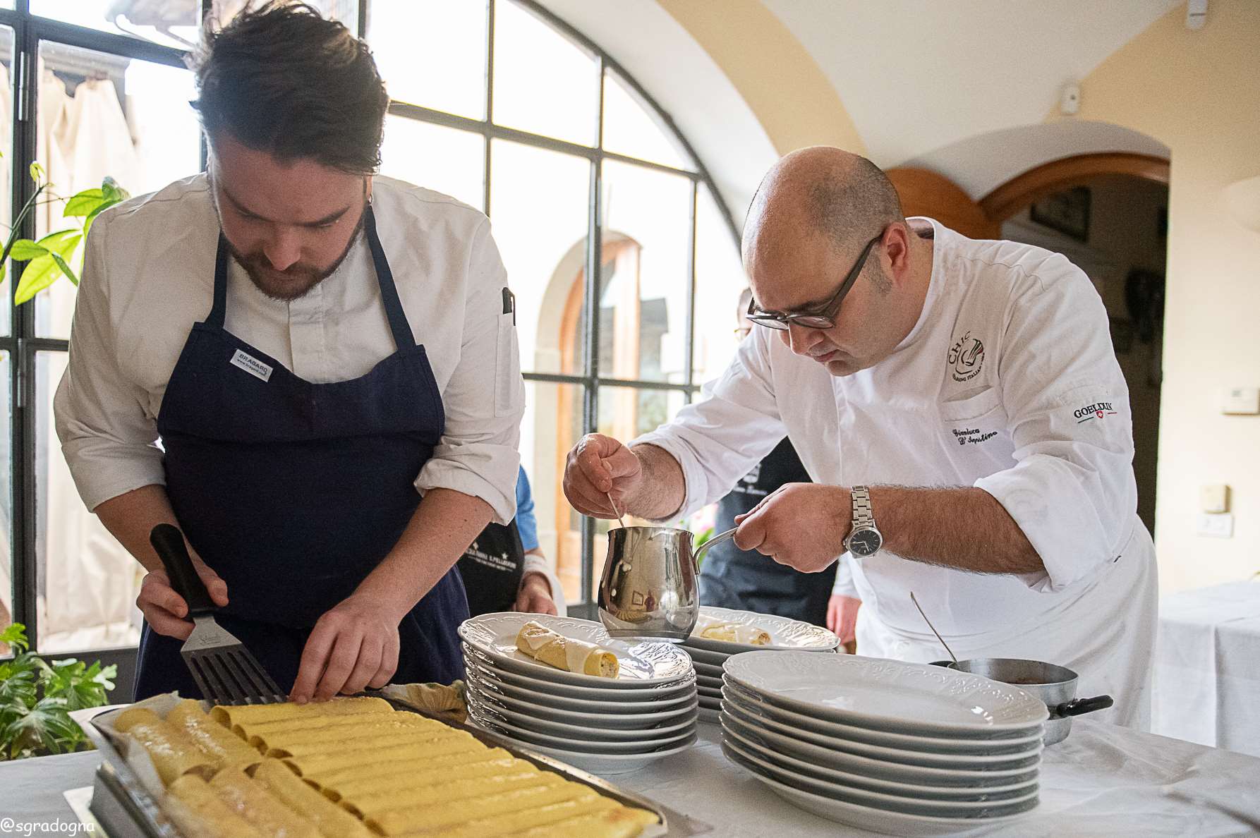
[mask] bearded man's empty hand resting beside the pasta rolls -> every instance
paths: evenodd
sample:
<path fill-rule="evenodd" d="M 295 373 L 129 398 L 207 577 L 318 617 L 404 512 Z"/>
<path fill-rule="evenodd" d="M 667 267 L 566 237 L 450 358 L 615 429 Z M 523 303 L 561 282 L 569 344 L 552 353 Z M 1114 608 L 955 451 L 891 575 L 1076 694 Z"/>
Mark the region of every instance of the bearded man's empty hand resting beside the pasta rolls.
<path fill-rule="evenodd" d="M 398 668 L 399 621 L 375 597 L 353 594 L 338 602 L 306 639 L 289 699 L 304 704 L 384 687 Z"/>

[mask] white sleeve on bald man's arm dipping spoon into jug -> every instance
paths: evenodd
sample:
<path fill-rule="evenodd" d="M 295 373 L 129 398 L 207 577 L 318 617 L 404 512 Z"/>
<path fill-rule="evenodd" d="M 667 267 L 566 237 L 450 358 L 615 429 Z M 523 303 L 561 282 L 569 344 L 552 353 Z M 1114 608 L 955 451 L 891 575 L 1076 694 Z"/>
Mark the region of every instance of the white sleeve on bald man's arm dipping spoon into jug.
<path fill-rule="evenodd" d="M 672 422 L 630 445 L 655 445 L 682 466 L 680 515 L 726 495 L 788 433 L 779 418 L 764 329 L 740 343 L 735 359 Z"/>

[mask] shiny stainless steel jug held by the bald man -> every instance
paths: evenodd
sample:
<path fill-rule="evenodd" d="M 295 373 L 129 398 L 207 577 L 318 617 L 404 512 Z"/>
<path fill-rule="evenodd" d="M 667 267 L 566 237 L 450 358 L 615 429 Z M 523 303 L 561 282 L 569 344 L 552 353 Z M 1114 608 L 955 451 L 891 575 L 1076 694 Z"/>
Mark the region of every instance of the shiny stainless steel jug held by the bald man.
<path fill-rule="evenodd" d="M 699 557 L 732 536 L 735 529 L 728 529 L 693 551 L 685 529 L 610 529 L 597 596 L 604 628 L 614 638 L 685 640 L 701 614 Z"/>

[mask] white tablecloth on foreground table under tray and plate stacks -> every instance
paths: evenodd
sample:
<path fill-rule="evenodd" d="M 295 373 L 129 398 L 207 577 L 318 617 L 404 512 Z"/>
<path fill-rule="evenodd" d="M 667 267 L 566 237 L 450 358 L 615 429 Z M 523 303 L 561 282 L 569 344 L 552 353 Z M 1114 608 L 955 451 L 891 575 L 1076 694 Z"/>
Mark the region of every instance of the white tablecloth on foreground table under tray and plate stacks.
<path fill-rule="evenodd" d="M 635 774 L 609 779 L 708 823 L 714 838 L 869 834 L 791 806 L 728 762 L 719 749 L 721 736 L 718 727 L 702 723 L 694 747 Z M 0 762 L 0 815 L 11 818 L 9 823 L 54 827 L 35 827 L 30 834 L 74 834 L 74 814 L 62 793 L 91 785 L 100 760 L 100 755 L 87 752 Z M 1257 780 L 1260 760 L 1255 757 L 1079 718 L 1066 741 L 1046 750 L 1041 806 L 1004 828 L 971 834 L 1252 834 L 1230 815 L 1166 798 L 1160 789 L 1172 785 L 1260 818 Z"/>

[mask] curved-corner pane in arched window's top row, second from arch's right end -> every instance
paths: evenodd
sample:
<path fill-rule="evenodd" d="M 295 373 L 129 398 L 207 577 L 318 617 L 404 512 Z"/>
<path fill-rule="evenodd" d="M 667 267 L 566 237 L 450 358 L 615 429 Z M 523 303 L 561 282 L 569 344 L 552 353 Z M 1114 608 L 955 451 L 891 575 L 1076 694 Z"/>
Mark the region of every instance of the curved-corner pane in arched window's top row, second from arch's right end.
<path fill-rule="evenodd" d="M 595 58 L 515 3 L 496 0 L 494 8 L 494 121 L 595 145 Z"/>

